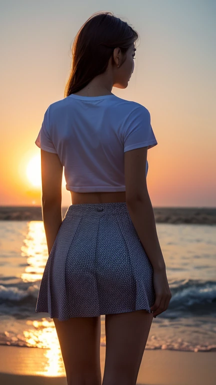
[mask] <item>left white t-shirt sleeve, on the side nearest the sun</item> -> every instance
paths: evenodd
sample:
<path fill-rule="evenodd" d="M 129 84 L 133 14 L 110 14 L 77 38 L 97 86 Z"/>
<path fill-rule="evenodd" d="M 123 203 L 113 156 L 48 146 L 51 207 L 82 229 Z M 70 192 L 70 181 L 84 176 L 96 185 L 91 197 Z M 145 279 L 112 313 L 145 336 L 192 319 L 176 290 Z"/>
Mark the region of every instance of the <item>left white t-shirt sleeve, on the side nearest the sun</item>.
<path fill-rule="evenodd" d="M 37 147 L 41 148 L 42 150 L 53 152 L 56 154 L 57 151 L 50 139 L 50 134 L 48 131 L 48 128 L 49 128 L 48 112 L 49 112 L 49 107 L 45 111 L 41 128 L 39 130 L 39 133 L 34 143 L 37 145 Z"/>

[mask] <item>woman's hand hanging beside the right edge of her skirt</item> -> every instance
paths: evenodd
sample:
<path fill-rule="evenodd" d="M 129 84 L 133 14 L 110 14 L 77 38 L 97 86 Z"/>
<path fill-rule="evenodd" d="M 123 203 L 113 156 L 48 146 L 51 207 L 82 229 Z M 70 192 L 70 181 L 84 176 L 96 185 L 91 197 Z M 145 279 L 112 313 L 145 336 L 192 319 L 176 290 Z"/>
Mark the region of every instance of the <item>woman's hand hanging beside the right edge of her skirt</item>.
<path fill-rule="evenodd" d="M 171 292 L 166 277 L 165 269 L 162 271 L 153 271 L 153 287 L 155 292 L 155 302 L 150 310 L 153 311 L 153 317 L 162 313 L 168 308 L 171 299 Z"/>

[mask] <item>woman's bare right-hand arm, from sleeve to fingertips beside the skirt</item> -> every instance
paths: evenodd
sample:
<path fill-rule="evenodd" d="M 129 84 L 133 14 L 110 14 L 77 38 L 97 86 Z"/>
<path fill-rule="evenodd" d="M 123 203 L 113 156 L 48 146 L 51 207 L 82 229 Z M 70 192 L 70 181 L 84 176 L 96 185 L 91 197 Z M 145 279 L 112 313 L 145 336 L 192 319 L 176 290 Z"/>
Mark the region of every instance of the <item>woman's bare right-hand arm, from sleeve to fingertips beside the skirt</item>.
<path fill-rule="evenodd" d="M 147 147 L 124 152 L 126 205 L 139 240 L 153 268 L 156 300 L 151 310 L 156 316 L 167 309 L 171 293 L 157 237 L 153 208 L 147 191 L 146 160 Z"/>

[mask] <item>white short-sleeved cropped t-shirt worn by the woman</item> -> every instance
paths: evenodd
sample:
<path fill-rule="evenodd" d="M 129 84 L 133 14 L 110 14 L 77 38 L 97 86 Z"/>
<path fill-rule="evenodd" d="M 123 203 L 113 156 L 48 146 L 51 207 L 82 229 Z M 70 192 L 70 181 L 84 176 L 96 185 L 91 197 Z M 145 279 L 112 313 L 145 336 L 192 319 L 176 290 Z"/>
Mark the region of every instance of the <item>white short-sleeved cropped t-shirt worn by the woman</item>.
<path fill-rule="evenodd" d="M 49 105 L 35 144 L 58 155 L 67 190 L 87 193 L 125 191 L 124 152 L 157 141 L 141 104 L 71 94 Z"/>

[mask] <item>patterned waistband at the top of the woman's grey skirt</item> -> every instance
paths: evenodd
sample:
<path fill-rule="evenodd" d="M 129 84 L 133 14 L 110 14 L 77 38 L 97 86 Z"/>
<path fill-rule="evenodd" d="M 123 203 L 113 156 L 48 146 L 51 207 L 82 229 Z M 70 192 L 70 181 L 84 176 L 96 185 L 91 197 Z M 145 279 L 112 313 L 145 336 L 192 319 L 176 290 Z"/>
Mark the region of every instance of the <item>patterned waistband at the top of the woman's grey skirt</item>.
<path fill-rule="evenodd" d="M 108 202 L 108 203 L 81 203 L 77 205 L 70 205 L 67 209 L 66 215 L 73 214 L 92 214 L 102 215 L 105 213 L 128 213 L 126 202 Z"/>

